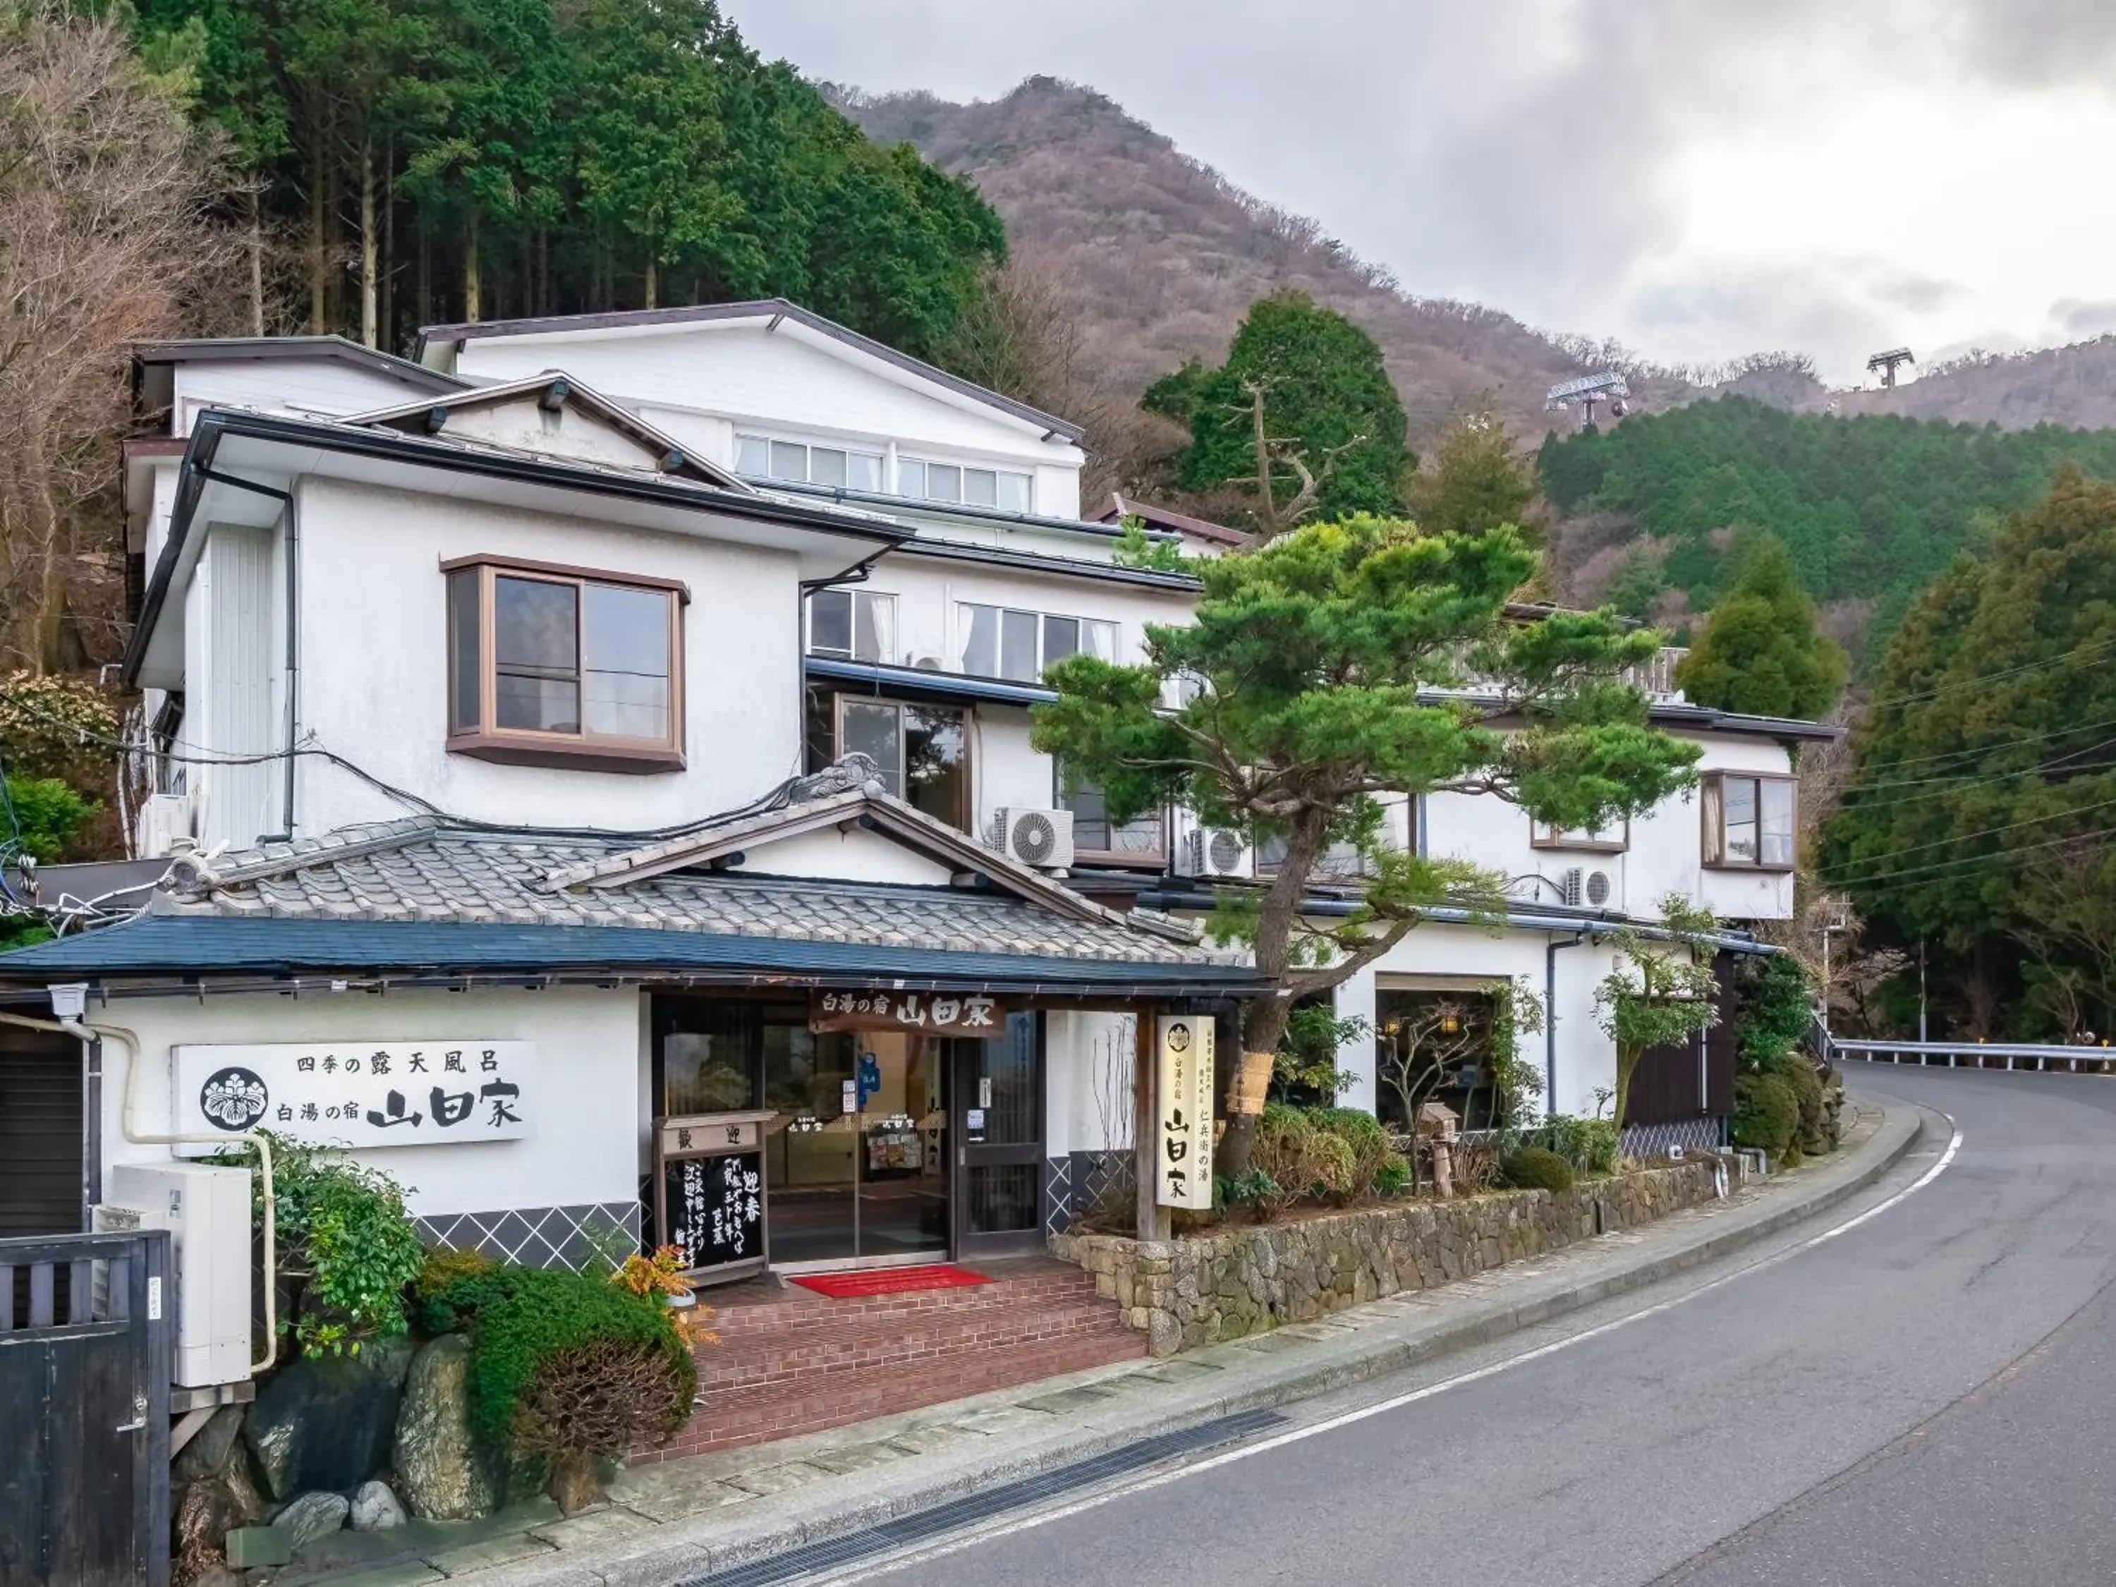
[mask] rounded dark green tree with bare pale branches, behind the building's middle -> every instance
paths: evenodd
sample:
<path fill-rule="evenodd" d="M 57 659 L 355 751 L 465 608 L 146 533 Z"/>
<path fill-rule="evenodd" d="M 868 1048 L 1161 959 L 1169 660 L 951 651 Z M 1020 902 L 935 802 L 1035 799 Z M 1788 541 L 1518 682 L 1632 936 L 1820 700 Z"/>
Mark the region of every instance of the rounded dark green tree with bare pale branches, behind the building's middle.
<path fill-rule="evenodd" d="M 1259 499 L 1257 516 L 1267 535 L 1301 516 L 1401 514 L 1405 508 L 1416 459 L 1382 349 L 1306 292 L 1284 290 L 1253 303 L 1225 364 L 1185 364 L 1155 381 L 1143 406 L 1191 432 L 1176 463 L 1176 485 L 1185 491 L 1246 487 Z M 1259 430 L 1267 453 L 1261 474 Z M 1301 501 L 1301 510 L 1282 512 L 1280 521 L 1274 508 L 1284 501 Z"/>

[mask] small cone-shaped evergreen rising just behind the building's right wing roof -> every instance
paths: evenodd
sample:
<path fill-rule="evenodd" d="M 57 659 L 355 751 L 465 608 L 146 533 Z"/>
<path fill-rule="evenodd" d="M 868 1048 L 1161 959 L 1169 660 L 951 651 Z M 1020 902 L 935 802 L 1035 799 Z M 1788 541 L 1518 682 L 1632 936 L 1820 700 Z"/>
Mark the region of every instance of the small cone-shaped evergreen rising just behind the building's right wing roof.
<path fill-rule="evenodd" d="M 1699 705 L 1761 717 L 1820 717 L 1843 694 L 1852 664 L 1843 647 L 1816 631 L 1816 603 L 1792 571 L 1777 535 L 1744 548 L 1739 576 L 1712 607 L 1703 633 L 1676 669 L 1676 683 Z"/>

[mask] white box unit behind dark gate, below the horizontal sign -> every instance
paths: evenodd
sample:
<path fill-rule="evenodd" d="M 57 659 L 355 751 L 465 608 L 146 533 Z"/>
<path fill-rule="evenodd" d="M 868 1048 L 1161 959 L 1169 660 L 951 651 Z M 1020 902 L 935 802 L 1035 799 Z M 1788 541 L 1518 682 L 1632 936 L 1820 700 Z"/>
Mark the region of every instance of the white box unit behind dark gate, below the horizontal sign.
<path fill-rule="evenodd" d="M 116 1164 L 95 1232 L 167 1229 L 176 1263 L 180 1388 L 250 1378 L 250 1170 L 193 1162 Z"/>

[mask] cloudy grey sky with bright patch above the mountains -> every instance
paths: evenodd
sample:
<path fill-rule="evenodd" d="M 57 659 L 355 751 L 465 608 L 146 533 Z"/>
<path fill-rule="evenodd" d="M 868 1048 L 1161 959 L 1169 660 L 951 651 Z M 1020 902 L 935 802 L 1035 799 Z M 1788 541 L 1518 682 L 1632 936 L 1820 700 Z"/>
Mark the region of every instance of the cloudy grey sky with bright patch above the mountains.
<path fill-rule="evenodd" d="M 1858 383 L 2116 330 L 2116 0 L 726 0 L 810 76 L 1088 83 L 1411 292 Z"/>

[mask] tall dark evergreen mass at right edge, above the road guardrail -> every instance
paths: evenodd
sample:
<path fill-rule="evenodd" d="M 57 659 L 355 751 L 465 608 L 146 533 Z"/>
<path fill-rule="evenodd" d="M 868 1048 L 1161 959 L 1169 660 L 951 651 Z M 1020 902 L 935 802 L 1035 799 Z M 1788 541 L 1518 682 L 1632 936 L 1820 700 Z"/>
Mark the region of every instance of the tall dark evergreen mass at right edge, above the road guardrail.
<path fill-rule="evenodd" d="M 2023 948 L 2038 984 L 2084 984 L 2086 1022 L 2116 1022 L 2112 658 L 2116 487 L 2065 470 L 1911 605 L 1875 675 L 1824 880 L 1877 944 L 1923 942 L 1972 1035 L 2036 1018 Z"/>

